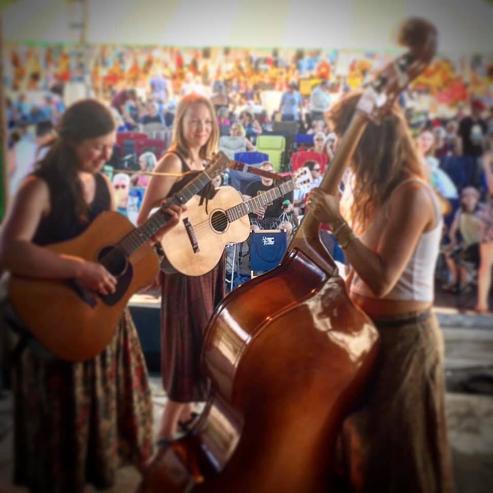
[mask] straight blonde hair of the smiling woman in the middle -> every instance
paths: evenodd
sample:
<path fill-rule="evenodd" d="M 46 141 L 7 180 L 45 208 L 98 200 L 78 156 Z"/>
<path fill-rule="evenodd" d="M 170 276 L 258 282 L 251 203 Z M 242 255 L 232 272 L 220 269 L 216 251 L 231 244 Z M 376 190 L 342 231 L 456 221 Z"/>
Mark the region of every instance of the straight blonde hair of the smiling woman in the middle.
<path fill-rule="evenodd" d="M 187 143 L 185 141 L 185 136 L 183 135 L 183 119 L 185 118 L 188 109 L 196 104 L 203 104 L 204 106 L 207 107 L 207 109 L 211 113 L 211 120 L 212 120 L 211 136 L 199 150 L 200 158 L 208 159 L 217 149 L 217 145 L 219 143 L 219 127 L 217 126 L 216 112 L 214 111 L 214 107 L 212 103 L 207 98 L 204 98 L 200 94 L 195 94 L 195 93 L 187 94 L 178 103 L 175 122 L 173 125 L 173 137 L 171 144 L 176 150 L 179 151 L 179 153 L 184 158 L 191 157 L 188 151 Z"/>

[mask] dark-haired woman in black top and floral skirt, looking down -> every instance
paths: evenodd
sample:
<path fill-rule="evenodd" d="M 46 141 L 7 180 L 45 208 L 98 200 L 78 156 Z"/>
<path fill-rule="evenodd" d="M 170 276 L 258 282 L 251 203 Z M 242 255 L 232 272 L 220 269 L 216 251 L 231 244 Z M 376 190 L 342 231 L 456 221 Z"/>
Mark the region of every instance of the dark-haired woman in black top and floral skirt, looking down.
<path fill-rule="evenodd" d="M 115 277 L 100 263 L 43 248 L 78 237 L 100 213 L 115 210 L 110 182 L 100 173 L 115 141 L 115 122 L 101 103 L 83 100 L 66 110 L 59 137 L 22 183 L 4 221 L 3 269 L 17 276 L 75 279 L 101 295 L 115 292 Z M 181 208 L 166 212 L 171 219 L 155 240 L 178 222 Z M 152 401 L 128 311 L 104 351 L 80 363 L 47 358 L 32 338 L 21 351 L 16 332 L 9 337 L 15 484 L 30 491 L 82 492 L 86 483 L 112 486 L 122 463 L 144 468 L 153 449 Z"/>

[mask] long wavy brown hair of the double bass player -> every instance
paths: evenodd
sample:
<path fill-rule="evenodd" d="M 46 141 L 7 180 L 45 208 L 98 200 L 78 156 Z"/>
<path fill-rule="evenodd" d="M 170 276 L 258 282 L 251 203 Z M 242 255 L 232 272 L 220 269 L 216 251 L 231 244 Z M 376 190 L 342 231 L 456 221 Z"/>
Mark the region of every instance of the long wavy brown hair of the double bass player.
<path fill-rule="evenodd" d="M 332 107 L 330 119 L 338 137 L 348 128 L 360 97 L 361 91 L 350 93 Z M 380 125 L 368 124 L 350 168 L 354 174 L 350 215 L 358 233 L 366 230 L 399 183 L 411 175 L 424 179 L 422 162 L 397 104 Z"/>

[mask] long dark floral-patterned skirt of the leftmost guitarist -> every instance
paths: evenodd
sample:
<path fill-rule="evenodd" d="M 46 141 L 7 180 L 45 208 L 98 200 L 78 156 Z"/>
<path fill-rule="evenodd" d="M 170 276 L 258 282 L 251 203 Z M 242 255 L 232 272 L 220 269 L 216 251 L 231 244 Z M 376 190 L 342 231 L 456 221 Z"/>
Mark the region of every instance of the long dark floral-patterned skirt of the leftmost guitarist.
<path fill-rule="evenodd" d="M 152 399 L 128 310 L 97 357 L 46 362 L 28 347 L 13 368 L 15 484 L 33 492 L 113 485 L 152 453 Z"/>

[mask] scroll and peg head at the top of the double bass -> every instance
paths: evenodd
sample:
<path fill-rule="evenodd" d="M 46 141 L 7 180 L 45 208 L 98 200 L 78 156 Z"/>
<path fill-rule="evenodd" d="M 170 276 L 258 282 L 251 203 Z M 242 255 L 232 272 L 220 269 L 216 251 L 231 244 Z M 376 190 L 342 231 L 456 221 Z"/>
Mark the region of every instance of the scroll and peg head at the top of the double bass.
<path fill-rule="evenodd" d="M 380 123 L 406 86 L 425 70 L 437 50 L 438 32 L 433 24 L 420 17 L 409 18 L 401 27 L 400 44 L 409 49 L 384 67 L 370 82 L 357 109 Z"/>

